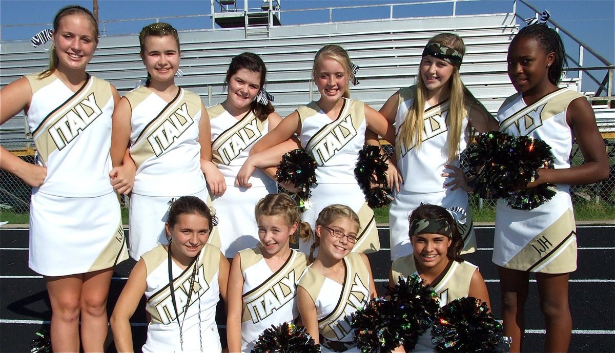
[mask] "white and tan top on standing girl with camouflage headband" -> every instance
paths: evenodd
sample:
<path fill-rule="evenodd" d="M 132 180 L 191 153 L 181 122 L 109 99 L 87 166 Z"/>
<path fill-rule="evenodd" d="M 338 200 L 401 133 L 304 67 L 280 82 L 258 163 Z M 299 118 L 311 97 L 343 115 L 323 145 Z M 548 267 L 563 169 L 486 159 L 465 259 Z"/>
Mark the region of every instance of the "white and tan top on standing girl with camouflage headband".
<path fill-rule="evenodd" d="M 395 133 L 406 119 L 408 109 L 412 106 L 416 95 L 416 86 L 406 87 L 399 90 L 399 104 L 397 115 L 395 115 Z M 395 143 L 395 155 L 397 156 L 397 167 L 402 174 L 403 180 L 412 181 L 401 185 L 402 192 L 439 192 L 443 191 L 443 184 L 446 177 L 442 176 L 444 165 L 450 164 L 459 167 L 459 158 L 448 161 L 448 125 L 446 116 L 450 108 L 450 101 L 429 106 L 425 103 L 423 113 L 424 133 L 421 146 L 408 149 L 400 140 L 399 135 Z M 470 111 L 470 105 L 466 106 L 466 111 Z M 461 153 L 467 146 L 469 134 L 467 132 L 468 118 L 464 117 L 462 130 L 464 138 L 459 141 L 458 153 Z M 420 177 L 417 178 L 416 176 Z"/>

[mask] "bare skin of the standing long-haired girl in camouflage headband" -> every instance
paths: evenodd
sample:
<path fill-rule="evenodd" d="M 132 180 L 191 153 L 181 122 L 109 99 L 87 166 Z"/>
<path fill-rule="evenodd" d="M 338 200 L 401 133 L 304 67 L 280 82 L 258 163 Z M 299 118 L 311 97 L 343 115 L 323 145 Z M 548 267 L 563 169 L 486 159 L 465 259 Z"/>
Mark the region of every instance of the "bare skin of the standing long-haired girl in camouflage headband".
<path fill-rule="evenodd" d="M 419 69 L 421 73 L 427 74 L 435 70 L 446 70 L 452 72 L 453 65 L 444 60 L 430 57 L 429 55 L 421 60 L 421 67 Z M 450 74 L 446 77 L 448 77 L 447 80 L 450 79 Z M 436 89 L 427 89 L 426 102 L 430 106 L 438 105 L 450 97 L 450 84 L 446 84 L 446 82 Z M 380 108 L 380 113 L 386 117 L 390 124 L 393 124 L 395 122 L 395 116 L 397 116 L 398 108 L 399 92 L 395 92 L 391 97 L 389 97 L 386 103 L 384 103 L 382 108 Z M 494 117 L 486 111 L 485 107 L 475 104 L 470 106 L 469 109 L 470 110 L 467 113 L 469 122 L 477 133 L 498 130 L 498 121 L 496 121 L 496 119 L 494 119 Z M 369 135 L 366 133 L 366 140 L 368 144 L 373 145 L 376 137 L 373 133 L 370 133 Z M 397 158 L 393 156 L 392 160 L 397 161 Z M 458 167 L 455 167 L 454 165 L 445 165 L 445 170 L 442 171 L 442 176 L 453 178 L 450 183 L 445 185 L 445 188 L 451 188 L 451 191 L 458 188 L 462 188 L 465 191 L 470 191 L 470 188 L 467 186 L 466 176 Z M 399 183 L 397 185 L 397 191 L 399 191 Z"/>

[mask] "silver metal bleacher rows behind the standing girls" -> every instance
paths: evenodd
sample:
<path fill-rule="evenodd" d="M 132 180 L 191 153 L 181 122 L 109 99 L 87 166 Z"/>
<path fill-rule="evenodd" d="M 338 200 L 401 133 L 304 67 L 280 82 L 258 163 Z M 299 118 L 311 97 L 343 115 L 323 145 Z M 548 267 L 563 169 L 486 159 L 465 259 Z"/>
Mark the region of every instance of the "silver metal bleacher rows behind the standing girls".
<path fill-rule="evenodd" d="M 199 93 L 207 106 L 220 103 L 231 58 L 255 52 L 267 65 L 267 90 L 276 97 L 274 106 L 285 116 L 318 97 L 311 84 L 314 54 L 325 44 L 339 44 L 360 66 L 360 84 L 352 87 L 351 97 L 378 109 L 395 90 L 413 84 L 427 40 L 453 31 L 467 47 L 462 80 L 494 112 L 514 93 L 506 73 L 506 52 L 517 30 L 514 14 L 504 13 L 272 26 L 268 38 L 246 38 L 244 28 L 187 31 L 180 33 L 180 68 L 185 76 L 176 82 Z M 135 34 L 102 37 L 88 71 L 113 83 L 120 93 L 127 92 L 146 75 L 138 52 Z M 1 53 L 2 86 L 47 65 L 47 52 L 23 42 L 3 43 Z M 23 138 L 23 116 L 2 125 L 0 132 L 2 141 Z"/>

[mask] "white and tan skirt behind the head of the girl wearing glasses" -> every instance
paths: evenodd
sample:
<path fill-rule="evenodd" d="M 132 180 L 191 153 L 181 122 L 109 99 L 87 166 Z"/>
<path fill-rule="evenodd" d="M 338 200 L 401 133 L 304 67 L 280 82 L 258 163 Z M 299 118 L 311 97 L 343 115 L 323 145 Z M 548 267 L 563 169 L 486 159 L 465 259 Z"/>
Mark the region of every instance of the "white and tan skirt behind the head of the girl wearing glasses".
<path fill-rule="evenodd" d="M 376 229 L 376 220 L 374 212 L 365 202 L 365 196 L 361 191 L 359 184 L 318 184 L 312 187 L 312 196 L 309 199 L 309 204 L 301 220 L 308 222 L 312 229 L 315 229 L 318 214 L 323 208 L 328 205 L 342 204 L 352 208 L 359 216 L 359 240 L 352 248 L 352 252 L 373 253 L 380 250 L 380 240 L 378 238 L 378 229 Z M 314 238 L 309 240 L 300 239 L 299 251 L 310 255 Z M 317 252 L 312 253 L 316 256 Z"/>

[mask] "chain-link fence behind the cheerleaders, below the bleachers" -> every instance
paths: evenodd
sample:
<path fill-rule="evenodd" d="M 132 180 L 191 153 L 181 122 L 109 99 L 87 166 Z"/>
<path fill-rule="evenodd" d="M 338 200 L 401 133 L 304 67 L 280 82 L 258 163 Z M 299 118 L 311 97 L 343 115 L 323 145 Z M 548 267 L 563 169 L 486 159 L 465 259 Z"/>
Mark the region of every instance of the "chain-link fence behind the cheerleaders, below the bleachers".
<path fill-rule="evenodd" d="M 572 186 L 573 202 L 593 202 L 595 204 L 605 203 L 615 205 L 615 138 L 607 139 L 606 149 L 609 157 L 609 167 L 611 173 L 608 180 L 601 181 L 591 185 Z M 20 142 L 23 146 L 23 141 Z M 11 150 L 15 149 L 17 143 L 3 142 L 2 146 Z M 391 145 L 383 146 L 389 155 L 392 154 L 393 148 Z M 14 152 L 15 153 L 15 152 Z M 20 156 L 28 163 L 34 162 L 34 156 Z M 573 165 L 579 165 L 583 161 L 583 156 L 579 150 L 579 146 L 573 145 L 573 153 L 571 154 Z M 12 213 L 28 213 L 30 212 L 30 192 L 31 188 L 22 180 L 12 175 L 9 172 L 0 170 L 0 212 Z M 128 197 L 122 197 L 122 205 L 128 204 Z M 480 200 L 478 197 L 470 197 L 470 202 L 474 203 L 476 208 L 494 207 L 495 200 Z"/>

